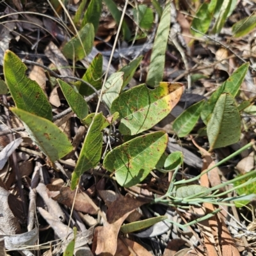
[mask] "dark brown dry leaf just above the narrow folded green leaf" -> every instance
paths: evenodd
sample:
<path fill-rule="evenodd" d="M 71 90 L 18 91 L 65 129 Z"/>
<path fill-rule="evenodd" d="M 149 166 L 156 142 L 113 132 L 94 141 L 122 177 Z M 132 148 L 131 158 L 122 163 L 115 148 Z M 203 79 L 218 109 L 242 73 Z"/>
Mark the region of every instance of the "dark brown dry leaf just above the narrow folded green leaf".
<path fill-rule="evenodd" d="M 107 212 L 107 220 L 109 223 L 114 223 L 122 218 L 127 212 L 131 212 L 146 202 L 140 202 L 130 196 L 118 196 L 118 198 L 110 205 Z"/>

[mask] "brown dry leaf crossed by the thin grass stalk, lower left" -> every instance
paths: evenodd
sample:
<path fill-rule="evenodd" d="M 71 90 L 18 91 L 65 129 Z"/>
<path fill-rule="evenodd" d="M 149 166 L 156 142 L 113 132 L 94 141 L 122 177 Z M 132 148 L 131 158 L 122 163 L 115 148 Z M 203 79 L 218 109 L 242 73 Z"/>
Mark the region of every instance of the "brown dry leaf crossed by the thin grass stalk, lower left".
<path fill-rule="evenodd" d="M 51 184 L 48 184 L 47 188 L 49 189 L 49 196 L 51 196 L 52 199 L 61 204 L 65 204 L 68 207 L 72 207 L 76 191 L 71 191 L 68 187 Z M 52 191 L 58 191 L 58 195 L 52 195 Z M 86 198 L 87 196 L 84 196 L 83 192 L 77 193 L 76 201 L 74 202 L 74 209 L 84 213 L 97 214 L 96 209 L 90 204 L 90 202 L 88 202 Z"/>

